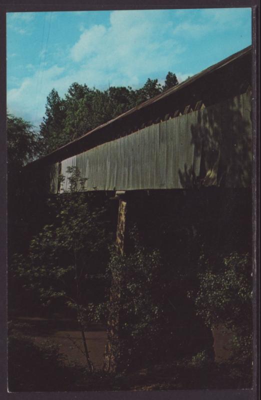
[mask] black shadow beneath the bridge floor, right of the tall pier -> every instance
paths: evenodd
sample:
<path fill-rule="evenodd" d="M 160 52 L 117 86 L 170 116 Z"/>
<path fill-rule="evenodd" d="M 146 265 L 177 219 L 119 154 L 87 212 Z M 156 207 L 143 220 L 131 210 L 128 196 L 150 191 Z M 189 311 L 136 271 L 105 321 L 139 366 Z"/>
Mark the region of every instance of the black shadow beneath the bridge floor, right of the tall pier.
<path fill-rule="evenodd" d="M 212 332 L 196 315 L 193 301 L 202 252 L 216 265 L 223 254 L 251 252 L 251 191 L 225 187 L 195 190 L 191 188 L 193 173 L 185 171 L 184 181 L 189 181 L 190 189 L 129 193 L 126 200 L 129 225 L 135 224 L 140 242 L 146 248 L 158 248 L 162 257 L 155 283 L 164 288 L 163 292 L 156 290 L 162 292 L 164 308 L 157 354 L 166 363 L 201 351 L 213 357 Z M 128 251 L 132 251 L 131 243 Z M 217 380 L 223 371 L 215 370 Z M 196 387 L 196 382 L 193 384 Z"/>

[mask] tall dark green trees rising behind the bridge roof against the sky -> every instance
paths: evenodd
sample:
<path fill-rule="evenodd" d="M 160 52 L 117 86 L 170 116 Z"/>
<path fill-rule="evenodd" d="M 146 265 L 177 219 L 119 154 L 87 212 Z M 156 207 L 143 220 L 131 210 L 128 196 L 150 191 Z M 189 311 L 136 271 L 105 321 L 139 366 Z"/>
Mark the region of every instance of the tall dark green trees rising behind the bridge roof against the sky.
<path fill-rule="evenodd" d="M 72 83 L 65 97 L 52 89 L 47 96 L 45 116 L 40 125 L 44 153 L 82 136 L 96 126 L 115 118 L 141 102 L 177 84 L 175 74 L 168 72 L 164 86 L 148 78 L 139 89 L 111 86 L 106 90 Z"/>

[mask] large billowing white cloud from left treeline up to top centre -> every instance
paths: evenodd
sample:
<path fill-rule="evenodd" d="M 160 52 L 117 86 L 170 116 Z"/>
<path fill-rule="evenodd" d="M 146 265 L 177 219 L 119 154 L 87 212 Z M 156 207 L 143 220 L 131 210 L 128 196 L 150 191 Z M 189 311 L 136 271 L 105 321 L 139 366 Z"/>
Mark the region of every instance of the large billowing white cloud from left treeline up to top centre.
<path fill-rule="evenodd" d="M 172 22 L 166 21 L 160 10 L 112 11 L 109 27 L 96 24 L 82 30 L 69 49 L 70 59 L 65 66 L 47 68 L 41 62 L 40 72 L 34 72 L 33 65 L 27 64 L 32 75 L 8 91 L 8 108 L 38 124 L 53 87 L 63 96 L 74 81 L 101 89 L 108 85 L 136 88 L 148 76 L 159 77 L 162 69 L 164 73 L 169 70 L 170 54 L 173 60 L 181 51 L 174 35 L 165 35 L 169 27 L 173 27 Z M 44 51 L 39 55 L 44 58 Z M 46 57 L 50 59 L 50 54 Z"/>

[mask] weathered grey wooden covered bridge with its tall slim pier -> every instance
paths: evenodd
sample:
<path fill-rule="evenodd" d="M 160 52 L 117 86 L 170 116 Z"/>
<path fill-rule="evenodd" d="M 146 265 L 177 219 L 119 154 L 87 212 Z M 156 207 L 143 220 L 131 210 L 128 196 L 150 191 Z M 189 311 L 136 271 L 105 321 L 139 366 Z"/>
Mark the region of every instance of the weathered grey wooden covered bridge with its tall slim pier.
<path fill-rule="evenodd" d="M 109 192 L 112 198 L 118 198 L 116 243 L 122 252 L 125 246 L 127 202 L 138 218 L 143 218 L 143 221 L 150 218 L 144 216 L 147 206 L 143 206 L 139 214 L 135 206 L 137 198 L 143 201 L 142 193 L 160 194 L 161 199 L 164 197 L 161 208 L 168 207 L 172 212 L 179 201 L 175 199 L 182 192 L 200 192 L 204 196 L 204 187 L 214 186 L 219 194 L 220 190 L 224 193 L 225 190 L 243 188 L 247 191 L 248 202 L 245 207 L 240 200 L 241 209 L 247 208 L 249 214 L 251 130 L 249 46 L 33 161 L 24 168 L 24 176 L 29 186 L 35 187 L 35 181 L 40 185 L 45 182 L 47 191 L 58 194 L 68 189 L 67 167 L 76 166 L 81 176 L 86 178 L 84 190 Z M 59 179 L 61 174 L 65 177 L 62 184 Z M 31 181 L 34 184 L 30 185 Z M 171 197 L 167 197 L 169 193 Z M 191 209 L 196 203 L 196 197 L 192 197 L 193 194 L 186 209 Z M 210 225 L 214 225 L 214 218 L 222 215 L 221 208 L 215 216 L 212 211 L 217 208 L 219 200 L 223 203 L 226 201 L 224 197 L 223 194 L 219 199 L 216 196 L 214 206 L 209 211 Z M 171 204 L 168 205 L 168 202 Z M 184 200 L 178 204 L 182 202 Z M 149 207 L 149 202 L 147 204 Z M 152 212 L 151 209 L 150 215 L 155 216 L 159 210 L 157 204 Z M 174 211 L 173 220 L 177 226 L 178 207 Z M 201 211 L 205 213 L 203 207 Z M 194 212 L 196 214 L 198 210 Z M 239 215 L 242 215 L 241 210 Z M 250 226 L 251 217 L 248 216 L 246 223 Z M 186 223 L 192 225 L 191 213 L 185 217 Z M 177 235 L 182 234 L 182 218 L 179 218 L 181 227 L 178 227 Z M 209 220 L 205 222 L 206 227 L 209 226 Z M 242 221 L 239 223 L 244 224 Z M 158 234 L 157 227 L 155 231 Z M 248 233 L 244 234 L 249 236 Z M 171 240 L 175 243 L 174 238 Z M 189 253 L 191 241 L 187 243 Z M 170 243 L 170 247 L 173 248 L 174 244 Z M 118 324 L 118 320 L 109 323 L 105 358 L 107 370 L 116 369 L 117 361 L 113 359 L 110 342 L 113 337 L 115 340 L 115 325 Z"/>

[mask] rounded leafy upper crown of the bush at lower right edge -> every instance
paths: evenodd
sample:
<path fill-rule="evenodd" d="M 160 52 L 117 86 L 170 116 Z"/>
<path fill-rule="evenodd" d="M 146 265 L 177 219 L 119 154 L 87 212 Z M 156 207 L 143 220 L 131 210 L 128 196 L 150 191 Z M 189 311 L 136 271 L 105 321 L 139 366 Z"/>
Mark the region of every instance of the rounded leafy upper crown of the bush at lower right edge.
<path fill-rule="evenodd" d="M 201 258 L 205 270 L 199 273 L 200 289 L 196 297 L 198 314 L 208 326 L 223 323 L 233 329 L 248 329 L 252 318 L 251 258 L 231 253 L 213 267 Z"/>

